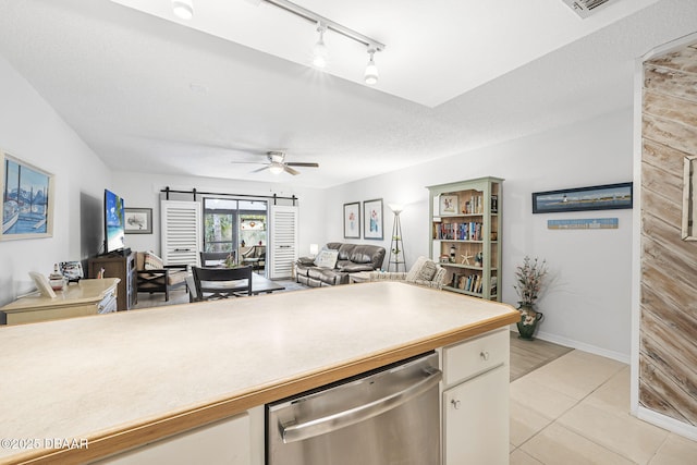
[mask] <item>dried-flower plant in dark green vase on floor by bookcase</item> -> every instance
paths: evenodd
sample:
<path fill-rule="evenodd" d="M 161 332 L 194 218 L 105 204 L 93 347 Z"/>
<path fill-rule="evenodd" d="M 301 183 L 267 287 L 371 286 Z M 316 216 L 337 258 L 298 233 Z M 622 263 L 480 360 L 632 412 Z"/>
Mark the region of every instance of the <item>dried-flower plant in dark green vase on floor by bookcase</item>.
<path fill-rule="evenodd" d="M 525 256 L 523 265 L 515 269 L 513 286 L 518 294 L 521 321 L 517 322 L 521 339 L 533 340 L 537 323 L 545 317 L 535 309 L 535 303 L 542 289 L 542 278 L 547 274 L 547 260 L 539 261 Z"/>

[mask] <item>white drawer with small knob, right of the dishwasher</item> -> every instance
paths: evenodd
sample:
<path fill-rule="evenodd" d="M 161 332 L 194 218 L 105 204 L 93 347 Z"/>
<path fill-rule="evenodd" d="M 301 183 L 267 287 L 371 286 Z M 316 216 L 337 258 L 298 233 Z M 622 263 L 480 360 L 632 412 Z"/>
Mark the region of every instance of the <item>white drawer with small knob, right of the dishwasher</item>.
<path fill-rule="evenodd" d="M 510 334 L 496 330 L 443 348 L 443 382 L 455 384 L 499 365 L 509 365 Z"/>

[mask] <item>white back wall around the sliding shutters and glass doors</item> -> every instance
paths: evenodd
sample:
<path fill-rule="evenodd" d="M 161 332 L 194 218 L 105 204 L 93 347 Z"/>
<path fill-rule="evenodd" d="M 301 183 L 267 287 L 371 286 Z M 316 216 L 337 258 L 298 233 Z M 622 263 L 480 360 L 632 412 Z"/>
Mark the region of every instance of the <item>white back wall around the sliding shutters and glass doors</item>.
<path fill-rule="evenodd" d="M 152 234 L 126 234 L 126 246 L 133 250 L 161 252 L 159 198 L 160 191 L 168 186 L 173 191 L 192 191 L 196 188 L 197 192 L 222 194 L 264 196 L 277 194 L 281 197 L 295 195 L 298 198 L 297 205 L 299 206 L 298 254 L 301 256 L 308 255 L 309 244 L 321 244 L 326 236 L 326 222 L 321 218 L 321 212 L 325 210 L 321 191 L 250 181 L 135 172 L 115 172 L 113 181 L 114 192 L 124 198 L 126 208 L 152 209 Z M 187 199 L 193 200 L 193 196 Z"/>

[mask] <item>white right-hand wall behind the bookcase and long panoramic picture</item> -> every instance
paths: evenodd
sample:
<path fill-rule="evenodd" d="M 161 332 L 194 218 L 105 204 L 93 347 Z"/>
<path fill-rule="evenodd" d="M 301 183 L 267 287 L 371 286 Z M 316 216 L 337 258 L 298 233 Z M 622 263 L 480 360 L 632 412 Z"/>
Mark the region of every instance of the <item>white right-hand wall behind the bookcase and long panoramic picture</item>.
<path fill-rule="evenodd" d="M 503 302 L 515 305 L 515 266 L 525 255 L 547 259 L 545 314 L 538 336 L 623 362 L 629 359 L 632 210 L 531 213 L 531 193 L 628 182 L 633 179 L 631 109 L 439 159 L 329 189 L 327 240 L 343 238 L 343 204 L 384 199 L 390 245 L 390 201 L 405 204 L 402 232 L 407 267 L 428 255 L 426 186 L 479 176 L 503 178 Z M 552 231 L 548 219 L 619 218 L 617 230 Z M 354 241 L 376 243 L 372 241 Z"/>

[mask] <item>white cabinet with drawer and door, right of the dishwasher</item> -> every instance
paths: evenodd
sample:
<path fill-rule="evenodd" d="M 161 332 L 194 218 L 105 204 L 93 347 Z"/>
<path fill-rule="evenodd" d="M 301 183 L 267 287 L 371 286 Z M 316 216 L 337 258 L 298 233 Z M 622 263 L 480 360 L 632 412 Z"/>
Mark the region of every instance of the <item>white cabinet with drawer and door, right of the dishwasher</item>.
<path fill-rule="evenodd" d="M 443 348 L 443 464 L 509 463 L 509 331 Z"/>

